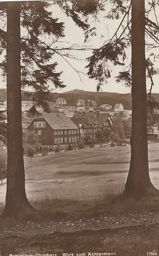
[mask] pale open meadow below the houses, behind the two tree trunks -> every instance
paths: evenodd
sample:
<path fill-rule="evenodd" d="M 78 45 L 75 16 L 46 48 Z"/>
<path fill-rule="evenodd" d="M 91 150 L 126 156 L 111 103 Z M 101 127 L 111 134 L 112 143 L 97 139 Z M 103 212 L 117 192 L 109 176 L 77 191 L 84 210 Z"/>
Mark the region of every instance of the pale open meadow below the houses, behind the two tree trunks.
<path fill-rule="evenodd" d="M 159 187 L 159 144 L 149 144 L 152 183 Z M 25 161 L 26 194 L 30 200 L 51 198 L 90 199 L 105 190 L 123 186 L 127 177 L 130 147 L 95 147 L 60 152 Z M 6 184 L 0 186 L 5 201 Z"/>

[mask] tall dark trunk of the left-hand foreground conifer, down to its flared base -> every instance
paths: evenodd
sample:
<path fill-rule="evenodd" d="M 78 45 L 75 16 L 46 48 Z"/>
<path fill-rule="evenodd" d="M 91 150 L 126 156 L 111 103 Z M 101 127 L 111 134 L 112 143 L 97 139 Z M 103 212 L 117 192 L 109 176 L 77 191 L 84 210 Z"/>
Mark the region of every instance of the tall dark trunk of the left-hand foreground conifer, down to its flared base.
<path fill-rule="evenodd" d="M 7 4 L 7 194 L 2 217 L 34 209 L 25 193 L 21 125 L 20 2 Z"/>

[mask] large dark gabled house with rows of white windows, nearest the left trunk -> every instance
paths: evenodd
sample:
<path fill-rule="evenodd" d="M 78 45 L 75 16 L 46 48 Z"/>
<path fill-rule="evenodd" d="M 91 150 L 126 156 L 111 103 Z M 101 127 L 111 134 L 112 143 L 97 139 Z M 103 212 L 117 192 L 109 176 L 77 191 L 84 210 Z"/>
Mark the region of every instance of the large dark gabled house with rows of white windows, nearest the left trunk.
<path fill-rule="evenodd" d="M 28 127 L 39 135 L 41 145 L 61 145 L 77 143 L 80 140 L 78 127 L 64 113 L 43 113 L 36 117 Z"/>

